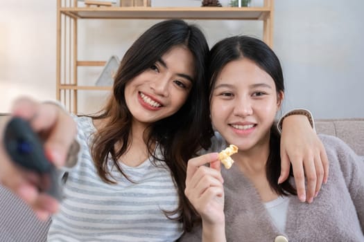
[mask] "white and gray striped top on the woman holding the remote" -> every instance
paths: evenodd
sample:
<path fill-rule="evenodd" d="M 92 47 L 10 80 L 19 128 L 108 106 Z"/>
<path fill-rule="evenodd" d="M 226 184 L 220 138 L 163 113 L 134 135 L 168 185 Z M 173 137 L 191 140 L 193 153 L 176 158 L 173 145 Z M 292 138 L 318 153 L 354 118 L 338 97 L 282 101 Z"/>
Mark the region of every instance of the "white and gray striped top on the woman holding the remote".
<path fill-rule="evenodd" d="M 177 191 L 169 169 L 146 160 L 138 167 L 122 165 L 135 183 L 109 162 L 117 184 L 98 177 L 89 150 L 95 131 L 92 119 L 76 118 L 81 158 L 69 170 L 60 212 L 52 217 L 48 241 L 175 241 L 182 224 L 166 218 L 175 210 Z M 160 152 L 159 152 L 160 155 Z"/>

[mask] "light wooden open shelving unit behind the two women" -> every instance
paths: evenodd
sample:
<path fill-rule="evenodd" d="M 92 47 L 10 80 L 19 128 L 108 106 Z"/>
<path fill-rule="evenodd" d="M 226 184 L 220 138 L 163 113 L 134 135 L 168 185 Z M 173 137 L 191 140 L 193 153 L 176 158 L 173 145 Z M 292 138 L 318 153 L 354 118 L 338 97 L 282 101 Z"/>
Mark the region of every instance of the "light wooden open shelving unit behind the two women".
<path fill-rule="evenodd" d="M 223 19 L 263 21 L 263 41 L 272 47 L 274 0 L 261 8 L 78 7 L 76 0 L 57 1 L 57 99 L 78 113 L 78 90 L 110 90 L 110 86 L 79 86 L 78 67 L 104 66 L 105 61 L 78 60 L 78 19 Z"/>

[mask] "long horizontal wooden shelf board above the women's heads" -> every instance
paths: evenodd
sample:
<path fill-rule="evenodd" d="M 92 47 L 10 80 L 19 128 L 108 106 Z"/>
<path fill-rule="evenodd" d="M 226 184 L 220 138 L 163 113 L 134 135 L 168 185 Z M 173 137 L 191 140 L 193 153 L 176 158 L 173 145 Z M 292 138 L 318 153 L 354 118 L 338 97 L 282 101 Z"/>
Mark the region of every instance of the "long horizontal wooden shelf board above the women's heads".
<path fill-rule="evenodd" d="M 60 8 L 60 12 L 76 19 L 245 19 L 262 20 L 270 8 Z"/>

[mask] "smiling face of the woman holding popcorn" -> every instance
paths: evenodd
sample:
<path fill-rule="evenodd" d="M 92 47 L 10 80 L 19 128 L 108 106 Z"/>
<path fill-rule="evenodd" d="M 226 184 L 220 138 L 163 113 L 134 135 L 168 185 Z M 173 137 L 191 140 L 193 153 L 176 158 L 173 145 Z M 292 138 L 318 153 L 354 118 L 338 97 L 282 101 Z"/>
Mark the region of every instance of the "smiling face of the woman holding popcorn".
<path fill-rule="evenodd" d="M 268 145 L 270 127 L 283 96 L 281 92 L 277 94 L 268 73 L 243 57 L 226 64 L 216 77 L 211 93 L 211 120 L 239 151 Z"/>

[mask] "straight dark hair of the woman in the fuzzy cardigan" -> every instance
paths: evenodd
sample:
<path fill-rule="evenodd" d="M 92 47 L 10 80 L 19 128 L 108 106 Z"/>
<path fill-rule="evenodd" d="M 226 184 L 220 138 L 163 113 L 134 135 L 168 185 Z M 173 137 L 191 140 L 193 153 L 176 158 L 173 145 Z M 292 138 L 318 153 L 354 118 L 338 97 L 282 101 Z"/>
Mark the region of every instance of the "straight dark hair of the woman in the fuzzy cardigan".
<path fill-rule="evenodd" d="M 216 78 L 223 70 L 226 64 L 237 59 L 247 58 L 257 64 L 263 71 L 268 73 L 275 82 L 277 94 L 284 92 L 284 78 L 281 64 L 273 50 L 260 39 L 246 35 L 228 37 L 218 41 L 211 48 L 208 78 L 209 95 L 214 89 Z M 270 153 L 266 163 L 266 176 L 270 187 L 279 195 L 297 194 L 297 191 L 289 179 L 281 184 L 277 184 L 281 171 L 280 156 L 281 136 L 275 124 L 270 129 Z M 291 169 L 290 176 L 293 176 Z"/>

